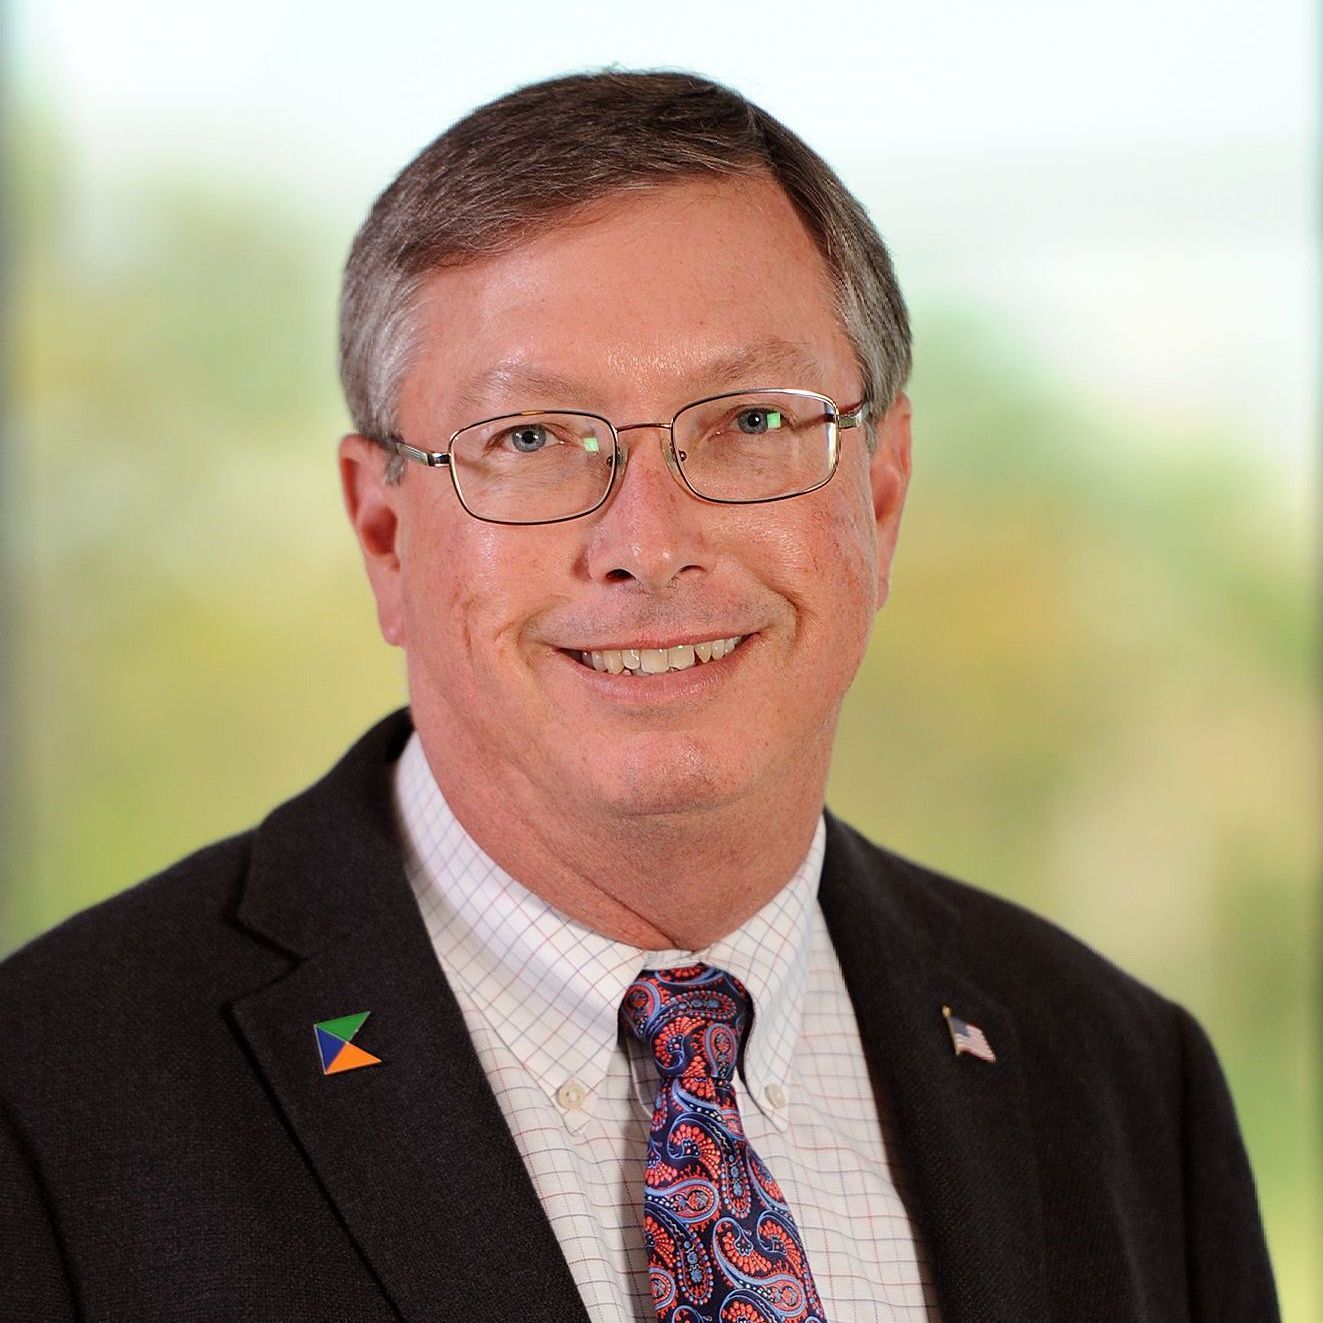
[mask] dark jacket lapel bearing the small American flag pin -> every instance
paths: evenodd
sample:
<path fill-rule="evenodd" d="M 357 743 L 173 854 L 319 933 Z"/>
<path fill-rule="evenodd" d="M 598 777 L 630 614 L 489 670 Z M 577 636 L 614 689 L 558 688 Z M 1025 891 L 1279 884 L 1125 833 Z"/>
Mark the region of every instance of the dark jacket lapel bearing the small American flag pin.
<path fill-rule="evenodd" d="M 896 1122 L 943 1323 L 1046 1318 L 1024 1062 L 1011 1016 L 950 959 L 958 916 L 830 818 L 820 900 Z M 943 1005 L 984 1032 L 995 1064 L 955 1054 Z"/>

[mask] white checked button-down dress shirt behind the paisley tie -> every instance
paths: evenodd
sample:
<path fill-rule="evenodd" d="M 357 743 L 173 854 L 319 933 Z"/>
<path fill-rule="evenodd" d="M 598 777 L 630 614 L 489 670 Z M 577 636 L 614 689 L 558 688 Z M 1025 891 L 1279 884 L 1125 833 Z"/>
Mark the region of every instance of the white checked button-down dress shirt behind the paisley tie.
<path fill-rule="evenodd" d="M 396 771 L 405 871 L 478 1057 L 594 1323 L 656 1323 L 643 1170 L 656 1069 L 618 1028 L 642 968 L 705 960 L 749 988 L 745 1131 L 803 1237 L 828 1323 L 935 1323 L 855 1012 L 818 906 L 826 828 L 789 885 L 705 951 L 644 951 L 503 872 L 446 804 L 418 736 Z"/>

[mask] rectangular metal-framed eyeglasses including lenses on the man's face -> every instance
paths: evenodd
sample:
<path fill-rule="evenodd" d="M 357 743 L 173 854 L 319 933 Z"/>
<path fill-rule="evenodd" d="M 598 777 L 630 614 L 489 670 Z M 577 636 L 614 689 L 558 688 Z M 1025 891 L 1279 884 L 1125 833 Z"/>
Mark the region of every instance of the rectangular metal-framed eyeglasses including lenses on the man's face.
<path fill-rule="evenodd" d="M 474 519 L 558 524 L 606 503 L 624 470 L 620 435 L 643 429 L 668 433 L 671 472 L 700 500 L 750 505 L 804 496 L 831 480 L 837 434 L 860 426 L 867 404 L 841 410 L 812 390 L 733 390 L 685 405 L 668 423 L 617 427 L 601 414 L 534 409 L 460 427 L 445 450 L 419 450 L 396 434 L 381 443 L 429 468 L 448 468 Z"/>

